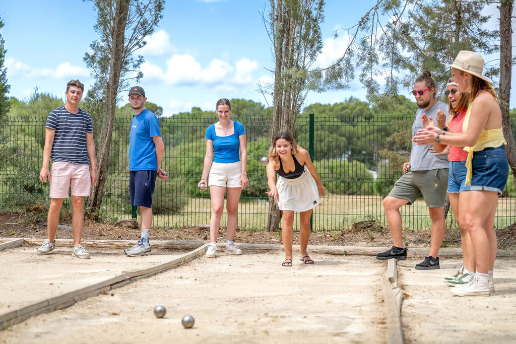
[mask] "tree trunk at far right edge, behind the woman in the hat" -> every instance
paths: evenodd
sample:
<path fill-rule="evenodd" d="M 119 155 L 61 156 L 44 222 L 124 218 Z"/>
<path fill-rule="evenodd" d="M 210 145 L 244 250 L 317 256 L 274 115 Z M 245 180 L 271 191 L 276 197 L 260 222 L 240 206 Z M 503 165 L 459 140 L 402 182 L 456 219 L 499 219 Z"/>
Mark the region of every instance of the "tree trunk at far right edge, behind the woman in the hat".
<path fill-rule="evenodd" d="M 516 185 L 516 144 L 512 135 L 509 114 L 509 101 L 511 97 L 511 73 L 512 73 L 512 0 L 502 0 L 500 10 L 500 84 L 498 95 L 502 110 L 502 127 L 507 141 L 505 152 L 509 167 L 512 171 L 512 180 Z"/>

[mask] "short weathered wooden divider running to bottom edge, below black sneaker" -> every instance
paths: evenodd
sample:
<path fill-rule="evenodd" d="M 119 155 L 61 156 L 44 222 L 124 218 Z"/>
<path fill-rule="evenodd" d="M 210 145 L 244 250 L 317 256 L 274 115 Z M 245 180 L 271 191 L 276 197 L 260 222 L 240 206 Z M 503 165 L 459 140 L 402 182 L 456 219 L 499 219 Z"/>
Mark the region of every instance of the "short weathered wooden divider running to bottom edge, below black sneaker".
<path fill-rule="evenodd" d="M 383 304 L 385 305 L 385 318 L 390 344 L 402 344 L 404 342 L 401 325 L 403 290 L 398 287 L 396 263 L 396 259 L 389 259 L 386 279 L 382 280 Z"/>

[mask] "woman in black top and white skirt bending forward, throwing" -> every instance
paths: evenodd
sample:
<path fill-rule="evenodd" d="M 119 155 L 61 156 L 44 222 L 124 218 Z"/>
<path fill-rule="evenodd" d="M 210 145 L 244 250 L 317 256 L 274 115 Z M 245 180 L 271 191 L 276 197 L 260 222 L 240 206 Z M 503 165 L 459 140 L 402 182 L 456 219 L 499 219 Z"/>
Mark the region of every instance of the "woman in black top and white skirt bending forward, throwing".
<path fill-rule="evenodd" d="M 276 181 L 276 174 L 278 180 Z M 299 211 L 299 245 L 301 261 L 314 264 L 307 253 L 310 238 L 310 216 L 312 209 L 319 205 L 319 195 L 324 194 L 324 186 L 319 178 L 310 155 L 286 132 L 279 133 L 272 141 L 267 164 L 269 196 L 276 199 L 283 211 L 281 238 L 285 248 L 282 266 L 292 266 L 292 240 L 294 236 L 294 212 Z"/>

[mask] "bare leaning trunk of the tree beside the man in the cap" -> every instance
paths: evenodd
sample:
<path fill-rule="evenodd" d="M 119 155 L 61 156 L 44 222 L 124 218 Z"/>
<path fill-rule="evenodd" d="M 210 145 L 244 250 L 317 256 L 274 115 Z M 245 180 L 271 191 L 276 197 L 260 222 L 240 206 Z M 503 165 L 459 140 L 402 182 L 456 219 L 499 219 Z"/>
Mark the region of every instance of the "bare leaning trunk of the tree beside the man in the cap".
<path fill-rule="evenodd" d="M 111 28 L 111 60 L 109 63 L 109 80 L 106 87 L 106 113 L 103 125 L 104 143 L 99 153 L 97 164 L 97 182 L 93 186 L 91 196 L 88 199 L 87 211 L 96 216 L 102 204 L 104 185 L 106 183 L 107 165 L 109 159 L 109 148 L 111 145 L 111 134 L 115 120 L 117 107 L 118 87 L 120 72 L 123 64 L 123 50 L 125 43 L 125 26 L 129 13 L 130 0 L 117 0 L 115 11 L 115 22 Z"/>

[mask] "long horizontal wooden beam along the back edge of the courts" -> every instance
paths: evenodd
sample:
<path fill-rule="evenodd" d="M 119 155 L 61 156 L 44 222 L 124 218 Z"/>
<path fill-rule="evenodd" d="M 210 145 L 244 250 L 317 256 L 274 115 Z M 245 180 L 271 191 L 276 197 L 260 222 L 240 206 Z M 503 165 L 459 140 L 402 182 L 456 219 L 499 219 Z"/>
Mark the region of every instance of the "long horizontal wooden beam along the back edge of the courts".
<path fill-rule="evenodd" d="M 0 239 L 1 240 L 1 239 Z M 45 239 L 25 238 L 25 242 L 29 244 L 42 245 Z M 132 247 L 138 240 L 82 240 L 80 243 L 84 247 L 104 248 L 104 249 L 125 249 Z M 196 249 L 206 242 L 199 240 L 151 240 L 152 248 L 155 249 Z M 56 239 L 56 244 L 64 247 L 72 247 L 73 239 Z M 225 243 L 219 242 L 218 247 L 225 246 Z M 283 250 L 281 244 L 260 244 L 260 243 L 237 243 L 238 248 L 243 250 L 255 251 L 275 251 Z M 299 249 L 299 245 L 294 245 L 294 249 Z M 308 249 L 314 253 L 326 253 L 336 255 L 364 255 L 376 256 L 378 253 L 389 250 L 390 247 L 356 247 L 356 246 L 330 246 L 330 245 L 309 245 Z M 428 248 L 409 248 L 408 255 L 426 256 Z M 440 256 L 462 257 L 462 249 L 459 248 L 442 248 L 439 250 Z M 498 258 L 516 258 L 516 251 L 498 250 L 496 253 Z"/>

